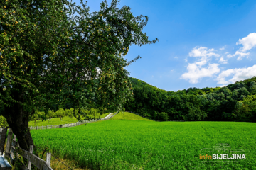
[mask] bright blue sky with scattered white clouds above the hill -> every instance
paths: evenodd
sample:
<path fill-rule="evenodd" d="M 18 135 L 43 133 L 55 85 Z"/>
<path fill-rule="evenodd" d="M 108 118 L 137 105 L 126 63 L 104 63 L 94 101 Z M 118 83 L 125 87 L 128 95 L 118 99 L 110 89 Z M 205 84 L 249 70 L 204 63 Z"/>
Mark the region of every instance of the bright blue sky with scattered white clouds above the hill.
<path fill-rule="evenodd" d="M 80 5 L 80 0 L 73 0 Z M 100 0 L 87 0 L 90 12 Z M 111 0 L 107 0 L 110 4 Z M 122 0 L 134 16 L 149 16 L 152 45 L 132 45 L 124 57 L 142 58 L 130 77 L 166 91 L 225 86 L 256 76 L 256 1 Z"/>

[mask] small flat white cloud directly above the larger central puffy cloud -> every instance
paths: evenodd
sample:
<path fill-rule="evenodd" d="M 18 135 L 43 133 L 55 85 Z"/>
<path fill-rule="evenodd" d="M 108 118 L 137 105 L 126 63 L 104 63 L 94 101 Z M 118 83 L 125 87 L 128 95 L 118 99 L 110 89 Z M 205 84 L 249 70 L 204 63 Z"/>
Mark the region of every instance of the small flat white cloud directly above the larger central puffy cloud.
<path fill-rule="evenodd" d="M 207 50 L 207 47 L 194 47 L 193 50 L 191 52 L 189 52 L 188 56 L 190 57 L 203 57 L 203 58 L 207 58 L 207 57 L 219 57 L 220 55 L 216 54 L 214 51 L 214 49 L 209 49 Z"/>

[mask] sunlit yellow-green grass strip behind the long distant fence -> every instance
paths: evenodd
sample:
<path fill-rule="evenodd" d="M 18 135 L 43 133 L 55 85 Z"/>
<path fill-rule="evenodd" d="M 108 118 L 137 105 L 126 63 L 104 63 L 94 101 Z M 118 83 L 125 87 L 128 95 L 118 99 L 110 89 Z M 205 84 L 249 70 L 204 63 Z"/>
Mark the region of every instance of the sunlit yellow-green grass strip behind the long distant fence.
<path fill-rule="evenodd" d="M 97 113 L 95 115 L 95 118 L 105 118 L 108 114 L 110 113 L 104 113 L 102 115 L 100 115 L 100 113 Z M 93 116 L 90 116 L 91 118 L 93 118 Z M 36 125 L 35 125 L 35 121 L 30 121 L 28 122 L 28 126 L 46 126 L 46 125 L 62 125 L 62 124 L 68 124 L 68 123 L 76 123 L 78 122 L 78 120 L 76 118 L 70 118 L 68 116 L 63 117 L 63 120 L 60 120 L 60 118 L 52 118 L 50 119 L 50 121 L 48 122 L 48 120 L 46 121 L 42 121 L 42 120 L 36 120 Z"/>

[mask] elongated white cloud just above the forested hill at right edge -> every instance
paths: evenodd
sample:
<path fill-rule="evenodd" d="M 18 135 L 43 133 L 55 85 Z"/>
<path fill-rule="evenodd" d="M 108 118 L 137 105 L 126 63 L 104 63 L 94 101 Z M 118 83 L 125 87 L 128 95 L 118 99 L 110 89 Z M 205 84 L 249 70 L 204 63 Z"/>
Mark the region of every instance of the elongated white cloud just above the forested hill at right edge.
<path fill-rule="evenodd" d="M 225 80 L 226 77 L 233 75 L 233 78 Z M 243 69 L 227 69 L 218 75 L 218 84 L 233 84 L 235 81 L 241 81 L 252 78 L 256 75 L 256 64 L 252 67 Z"/>

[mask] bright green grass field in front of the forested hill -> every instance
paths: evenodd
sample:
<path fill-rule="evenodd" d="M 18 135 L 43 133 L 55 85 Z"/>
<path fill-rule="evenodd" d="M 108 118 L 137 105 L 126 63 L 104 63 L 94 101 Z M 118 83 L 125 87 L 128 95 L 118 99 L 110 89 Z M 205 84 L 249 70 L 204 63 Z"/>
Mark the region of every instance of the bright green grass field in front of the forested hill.
<path fill-rule="evenodd" d="M 90 169 L 256 169 L 255 123 L 154 122 L 122 120 L 134 119 L 137 115 L 132 113 L 116 116 L 118 120 L 86 126 L 31 130 L 31 135 L 35 145 Z M 243 149 L 246 159 L 199 159 L 213 154 L 201 149 L 218 143 Z"/>

